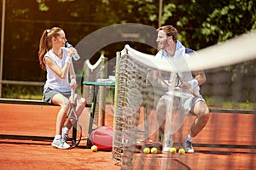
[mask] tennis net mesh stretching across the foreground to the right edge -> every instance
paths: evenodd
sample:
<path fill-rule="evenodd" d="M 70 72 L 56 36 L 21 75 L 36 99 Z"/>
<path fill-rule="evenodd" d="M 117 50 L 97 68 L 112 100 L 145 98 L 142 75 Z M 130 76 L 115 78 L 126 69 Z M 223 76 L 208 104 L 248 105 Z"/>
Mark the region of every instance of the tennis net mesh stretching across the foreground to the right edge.
<path fill-rule="evenodd" d="M 250 54 L 250 56 L 252 56 L 252 54 Z M 218 107 L 237 109 L 238 106 L 241 107 L 241 105 L 244 105 L 243 109 L 255 110 L 255 56 L 256 54 L 253 58 L 250 57 L 252 60 L 241 62 L 241 59 L 236 59 L 239 60 L 239 62 L 230 61 L 229 63 L 231 63 L 231 65 L 223 66 L 224 64 L 218 61 L 219 67 L 216 63 L 213 64 L 214 66 L 209 66 L 209 69 L 204 67 L 207 82 L 201 87 L 201 94 L 204 95 L 208 106 L 213 107 L 214 110 L 214 108 Z M 240 58 L 241 57 L 242 56 L 240 56 Z M 198 61 L 198 59 L 195 59 L 195 61 L 196 60 Z M 201 62 L 205 60 L 207 59 L 202 59 Z M 166 80 L 168 76 L 170 78 L 170 75 L 175 77 L 179 69 L 180 71 L 189 71 L 189 69 L 192 68 L 193 71 L 196 71 L 196 68 L 198 70 L 202 68 L 201 63 L 195 65 L 195 62 L 194 64 L 192 62 L 192 65 L 182 65 L 179 68 L 173 66 L 180 64 L 180 62 L 181 61 L 166 63 L 159 61 L 154 59 L 153 55 L 140 53 L 129 46 L 125 46 L 125 49 L 122 51 L 122 55 L 119 59 L 119 90 L 113 134 L 113 159 L 120 162 L 122 169 L 131 169 L 131 167 L 134 169 L 137 169 L 137 167 L 150 169 L 150 167 L 154 167 L 154 165 L 145 167 L 144 163 L 149 158 L 143 154 L 142 151 L 138 153 L 136 144 L 138 141 L 148 139 L 160 140 L 159 123 L 157 122 L 155 107 L 160 96 L 166 92 L 166 88 L 163 88 L 165 85 L 163 85 L 162 80 Z M 209 62 L 207 63 L 209 64 Z M 160 72 L 162 77 L 157 77 L 155 72 Z M 247 74 L 248 72 L 251 73 Z M 173 83 L 178 83 L 177 77 Z M 175 85 L 172 87 L 171 91 L 173 91 L 174 94 L 172 95 L 176 98 L 181 97 L 179 96 L 180 93 L 175 94 Z M 183 94 L 189 96 L 193 95 L 191 93 L 189 94 L 189 92 L 183 92 Z M 175 101 L 175 99 L 173 99 L 173 101 Z M 172 106 L 174 103 L 175 102 L 172 102 Z M 145 112 L 147 113 L 146 115 L 144 114 Z M 212 127 L 213 130 L 223 130 L 225 125 L 217 123 L 218 117 L 216 115 L 212 116 L 212 121 L 209 123 L 214 125 Z M 224 117 L 228 118 L 229 116 L 232 116 L 230 123 L 234 123 L 234 125 L 241 123 L 241 121 L 239 121 L 240 114 L 224 115 Z M 248 122 L 247 134 L 241 132 L 243 131 L 242 129 L 236 129 L 235 132 L 235 127 L 234 131 L 232 131 L 233 133 L 231 131 L 224 133 L 221 138 L 218 138 L 216 133 L 212 133 L 212 135 L 210 133 L 206 135 L 206 138 L 212 139 L 212 141 L 210 144 L 207 144 L 207 146 L 214 147 L 214 144 L 227 144 L 226 146 L 229 148 L 236 148 L 236 144 L 245 144 L 248 148 L 252 148 L 250 146 L 255 145 L 255 130 L 253 129 L 255 129 L 256 119 L 255 114 L 248 114 L 247 116 L 250 117 L 248 119 L 251 120 Z M 183 142 L 192 122 L 193 119 L 188 116 L 185 120 L 179 122 L 177 130 L 172 132 L 177 144 Z M 237 133 L 238 131 L 239 134 Z M 242 138 L 244 135 L 247 135 L 247 139 Z M 227 138 L 231 138 L 232 142 L 227 143 L 227 141 L 229 141 Z M 204 143 L 201 139 L 199 139 L 198 142 Z M 242 142 L 241 139 L 243 140 Z M 197 146 L 201 145 L 203 144 L 197 144 Z M 252 150 L 255 151 L 255 148 Z M 182 162 L 175 161 L 169 154 L 162 158 L 152 156 L 150 159 L 156 164 L 160 163 L 161 166 L 159 168 L 166 167 L 166 163 L 170 164 L 170 162 L 173 162 L 172 166 L 169 166 L 170 168 L 189 169 L 189 167 L 183 165 Z M 253 161 L 250 163 L 253 164 Z"/>

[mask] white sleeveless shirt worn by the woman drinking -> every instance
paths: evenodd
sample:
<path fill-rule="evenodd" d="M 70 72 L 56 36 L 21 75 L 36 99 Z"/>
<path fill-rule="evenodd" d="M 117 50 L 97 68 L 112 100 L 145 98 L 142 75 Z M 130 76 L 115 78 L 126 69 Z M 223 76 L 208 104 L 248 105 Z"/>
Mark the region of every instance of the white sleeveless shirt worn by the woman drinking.
<path fill-rule="evenodd" d="M 57 57 L 51 49 L 46 54 L 44 54 L 44 59 L 45 57 L 49 57 L 55 62 L 56 65 L 60 67 L 60 69 L 62 69 L 65 65 L 65 59 L 67 58 L 68 50 L 67 48 L 61 48 L 61 50 L 62 50 L 62 59 Z M 45 64 L 45 60 L 44 60 L 44 64 Z M 46 71 L 47 71 L 47 76 L 46 76 L 46 82 L 44 84 L 44 90 L 46 88 L 51 88 L 61 93 L 71 91 L 68 72 L 67 72 L 66 78 L 62 79 L 61 77 L 56 75 L 55 72 L 52 71 L 48 65 L 46 65 Z"/>

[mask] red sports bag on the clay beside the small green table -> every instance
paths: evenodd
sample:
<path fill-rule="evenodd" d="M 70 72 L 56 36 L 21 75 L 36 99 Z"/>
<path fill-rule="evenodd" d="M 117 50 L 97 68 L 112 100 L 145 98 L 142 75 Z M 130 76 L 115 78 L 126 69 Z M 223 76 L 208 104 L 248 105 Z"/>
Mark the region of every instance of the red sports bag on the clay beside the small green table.
<path fill-rule="evenodd" d="M 113 127 L 98 127 L 90 133 L 90 144 L 98 150 L 111 151 L 113 143 Z"/>

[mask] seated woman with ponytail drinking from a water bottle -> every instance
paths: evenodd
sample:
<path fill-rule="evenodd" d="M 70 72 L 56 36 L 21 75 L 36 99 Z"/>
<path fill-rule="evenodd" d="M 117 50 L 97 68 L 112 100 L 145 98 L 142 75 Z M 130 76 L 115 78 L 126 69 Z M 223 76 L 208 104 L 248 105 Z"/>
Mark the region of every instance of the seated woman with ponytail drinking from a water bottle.
<path fill-rule="evenodd" d="M 77 88 L 76 76 L 73 69 L 72 54 L 75 48 L 65 48 L 65 32 L 59 27 L 45 30 L 40 39 L 38 58 L 44 71 L 47 71 L 47 80 L 44 84 L 44 101 L 53 105 L 60 105 L 61 109 L 56 118 L 55 139 L 52 146 L 58 149 L 68 149 L 66 143 L 72 122 L 64 126 L 70 106 L 71 90 Z M 69 83 L 70 80 L 70 83 Z M 74 95 L 77 115 L 84 110 L 86 101 L 79 94 Z"/>

